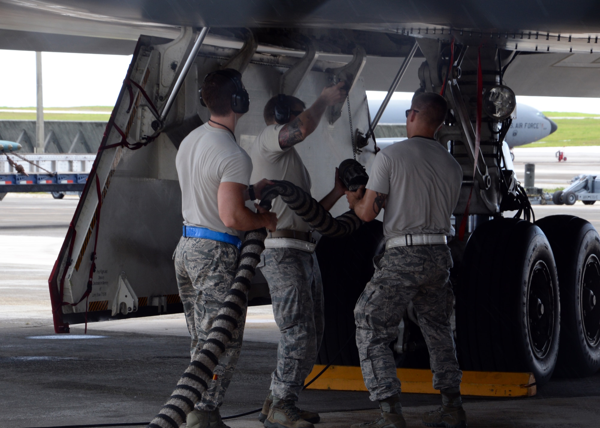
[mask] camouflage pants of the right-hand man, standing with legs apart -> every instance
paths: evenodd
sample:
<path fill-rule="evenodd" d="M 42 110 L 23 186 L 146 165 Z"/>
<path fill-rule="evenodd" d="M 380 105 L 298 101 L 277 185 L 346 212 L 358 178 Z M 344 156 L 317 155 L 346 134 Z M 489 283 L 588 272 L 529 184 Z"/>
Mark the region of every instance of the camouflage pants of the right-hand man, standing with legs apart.
<path fill-rule="evenodd" d="M 362 376 L 373 401 L 400 393 L 400 380 L 389 344 L 412 300 L 430 354 L 433 387 L 455 388 L 458 369 L 450 315 L 454 295 L 448 282 L 452 267 L 446 245 L 386 250 L 373 259 L 375 273 L 356 303 L 356 345 Z"/>

